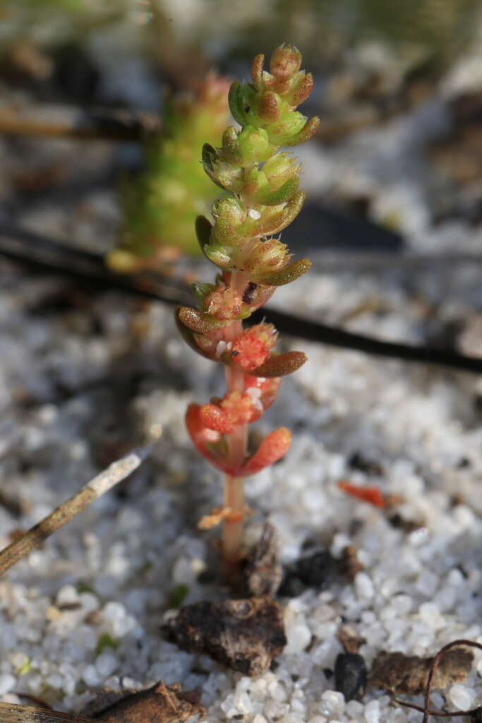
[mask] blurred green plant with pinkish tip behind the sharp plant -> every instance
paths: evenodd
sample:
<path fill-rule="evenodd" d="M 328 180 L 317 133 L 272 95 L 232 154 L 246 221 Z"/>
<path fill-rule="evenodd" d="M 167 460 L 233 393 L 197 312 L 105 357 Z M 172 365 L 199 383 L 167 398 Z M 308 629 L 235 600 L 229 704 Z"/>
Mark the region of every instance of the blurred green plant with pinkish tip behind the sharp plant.
<path fill-rule="evenodd" d="M 218 144 L 228 119 L 229 83 L 208 74 L 195 95 L 167 98 L 162 130 L 143 143 L 145 171 L 121 181 L 123 215 L 113 270 L 155 268 L 180 254 L 199 254 L 194 220 L 216 196 L 200 163 L 205 139 Z"/>

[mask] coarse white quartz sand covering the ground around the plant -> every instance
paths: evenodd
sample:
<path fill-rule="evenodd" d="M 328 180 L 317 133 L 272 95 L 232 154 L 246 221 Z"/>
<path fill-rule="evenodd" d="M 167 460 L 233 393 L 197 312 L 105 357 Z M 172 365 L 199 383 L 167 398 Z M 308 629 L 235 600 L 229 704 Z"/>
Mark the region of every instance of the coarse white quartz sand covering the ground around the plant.
<path fill-rule="evenodd" d="M 140 430 L 163 428 L 152 460 L 121 485 L 123 496 L 98 500 L 0 581 L 1 698 L 29 693 L 81 711 L 103 685 L 162 679 L 202 689 L 210 723 L 419 721 L 375 688 L 345 703 L 330 670 L 342 621 L 362 639 L 368 665 L 382 649 L 423 656 L 455 638 L 482 642 L 477 377 L 290 341 L 309 362 L 257 426 L 286 424 L 293 447 L 249 479 L 250 534 L 269 519 L 285 563 L 306 540 L 335 556 L 353 544 L 364 570 L 353 583 L 283 599 L 288 645 L 273 672 L 249 679 L 160 635 L 176 586 L 189 589 L 186 602 L 219 594 L 198 579 L 212 564 L 213 536 L 196 521 L 220 501 L 220 484 L 191 448 L 183 415 L 186 403 L 218 390 L 220 376 L 178 340 L 171 309 L 108 293 L 85 300 L 82 312 L 33 315 L 48 283 L 13 267 L 0 274 L 2 424 L 10 424 L 1 489 L 20 505 L 19 516 L 0 507 L 0 544 L 89 479 L 108 443 L 129 447 Z M 400 281 L 365 275 L 355 285 L 349 272 L 313 272 L 275 298 L 335 320 L 340 307 L 355 309 L 370 294 L 384 312 L 361 312 L 351 328 L 421 341 L 423 319 Z M 448 301 L 439 302 L 442 318 Z M 129 391 L 132 369 L 145 378 Z M 123 393 L 125 406 L 116 406 Z M 356 452 L 379 474 L 353 469 Z M 340 479 L 403 497 L 397 510 L 413 531 L 343 495 Z M 468 680 L 439 703 L 480 703 L 481 671 L 475 654 Z"/>

